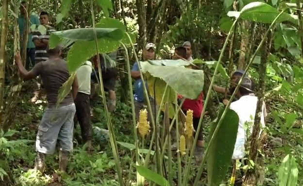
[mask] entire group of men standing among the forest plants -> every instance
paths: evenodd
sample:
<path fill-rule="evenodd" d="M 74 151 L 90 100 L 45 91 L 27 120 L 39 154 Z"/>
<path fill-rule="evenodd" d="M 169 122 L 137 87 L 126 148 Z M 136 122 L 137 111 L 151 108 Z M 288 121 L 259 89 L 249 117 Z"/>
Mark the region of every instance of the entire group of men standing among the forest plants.
<path fill-rule="evenodd" d="M 26 3 L 22 2 L 20 6 L 21 16 L 18 19 L 20 33 L 24 31 L 24 23 L 26 22 Z M 38 20 L 31 15 L 29 17 L 31 24 L 39 25 Z M 47 154 L 53 154 L 55 152 L 56 143 L 59 143 L 59 170 L 65 171 L 67 168 L 67 160 L 69 153 L 73 150 L 73 131 L 77 122 L 80 123 L 81 135 L 83 142 L 87 142 L 88 146 L 91 145 L 91 122 L 90 122 L 90 105 L 89 98 L 91 94 L 91 80 L 100 81 L 99 71 L 102 72 L 102 82 L 104 90 L 109 94 L 108 108 L 112 112 L 116 106 L 116 94 L 115 83 L 118 76 L 116 68 L 105 68 L 106 57 L 102 54 L 98 54 L 92 58 L 92 62 L 96 69 L 95 74 L 92 73 L 92 63 L 86 61 L 81 66 L 73 80 L 71 92 L 60 102 L 56 107 L 58 92 L 60 87 L 67 81 L 70 74 L 67 69 L 67 61 L 61 58 L 61 46 L 56 46 L 53 49 L 48 48 L 48 40 L 51 32 L 54 32 L 54 28 L 49 26 L 49 18 L 46 12 L 40 13 L 40 23 L 47 28 L 46 34 L 41 34 L 39 31 L 30 33 L 28 45 L 26 49 L 27 58 L 25 68 L 21 63 L 20 53 L 15 54 L 16 64 L 19 68 L 19 72 L 23 77 L 23 80 L 30 80 L 36 77 L 41 78 L 41 82 L 44 84 L 44 89 L 47 95 L 48 106 L 45 109 L 45 113 L 38 127 L 36 136 L 36 152 L 34 169 L 43 172 L 45 168 L 45 156 Z M 25 49 L 21 49 L 25 50 Z M 155 58 L 156 47 L 153 43 L 148 43 L 143 50 L 144 60 L 153 60 Z M 190 42 L 186 41 L 182 47 L 177 47 L 173 59 L 185 59 L 189 62 L 193 61 Z M 98 58 L 100 59 L 101 67 L 98 66 Z M 30 69 L 30 62 L 34 66 Z M 34 64 L 33 64 L 34 63 Z M 99 69 L 100 68 L 100 69 Z M 242 71 L 236 71 L 232 77 L 232 87 L 227 90 L 227 93 L 232 94 L 235 90 L 233 87 L 238 83 L 239 77 L 243 75 Z M 138 120 L 139 111 L 146 107 L 146 100 L 149 99 L 152 104 L 153 116 L 156 115 L 157 105 L 153 104 L 154 101 L 151 96 L 145 98 L 143 82 L 140 78 L 139 65 L 136 62 L 131 70 L 131 76 L 135 79 L 135 114 Z M 40 79 L 39 78 L 39 79 Z M 38 82 L 38 81 L 37 81 Z M 147 82 L 145 82 L 147 85 Z M 32 99 L 34 102 L 38 98 L 38 91 L 40 89 L 40 83 L 38 82 L 35 89 L 35 96 Z M 215 86 L 217 92 L 225 92 L 225 88 Z M 148 87 L 147 87 L 148 89 Z M 243 134 L 245 135 L 244 123 L 251 120 L 251 115 L 254 116 L 256 109 L 256 97 L 252 94 L 253 82 L 246 76 L 241 84 L 239 91 L 237 92 L 238 100 L 231 103 L 230 108 L 235 110 L 239 115 L 239 130 L 237 142 L 241 142 Z M 178 96 L 180 99 L 182 95 Z M 250 103 L 249 109 L 245 110 L 247 104 Z M 193 110 L 193 125 L 197 130 L 199 119 L 201 117 L 203 109 L 203 93 L 196 100 L 185 99 L 182 106 L 182 110 L 186 113 L 187 110 Z M 265 109 L 265 108 L 264 108 Z M 154 112 L 156 111 L 156 112 Z M 150 116 L 150 115 L 149 115 Z M 151 120 L 151 118 L 148 118 Z M 264 119 L 261 120 L 263 125 Z M 239 139 L 238 139 L 239 138 Z M 245 138 L 245 136 L 244 136 Z M 243 144 L 244 146 L 244 144 Z M 242 146 L 241 146 L 242 147 Z M 197 148 L 195 156 L 198 159 L 202 158 L 204 151 L 204 141 L 201 133 L 198 134 Z M 235 150 L 236 151 L 236 150 Z"/>

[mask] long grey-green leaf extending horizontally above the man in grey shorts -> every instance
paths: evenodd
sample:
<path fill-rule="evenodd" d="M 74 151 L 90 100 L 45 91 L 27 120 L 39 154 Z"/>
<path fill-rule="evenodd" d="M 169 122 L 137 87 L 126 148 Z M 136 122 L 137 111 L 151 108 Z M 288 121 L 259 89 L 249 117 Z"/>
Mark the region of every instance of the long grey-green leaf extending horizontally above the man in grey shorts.
<path fill-rule="evenodd" d="M 108 37 L 120 40 L 123 37 L 123 31 L 118 28 L 95 28 L 97 38 Z M 94 28 L 78 28 L 65 31 L 57 31 L 51 34 L 58 35 L 65 39 L 91 41 L 95 39 Z"/>

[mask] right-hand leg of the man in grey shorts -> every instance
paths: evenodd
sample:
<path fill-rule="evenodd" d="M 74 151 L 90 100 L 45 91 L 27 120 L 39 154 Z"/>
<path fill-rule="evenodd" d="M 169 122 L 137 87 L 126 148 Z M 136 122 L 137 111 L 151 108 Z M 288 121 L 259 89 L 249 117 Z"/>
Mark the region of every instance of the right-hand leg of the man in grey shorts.
<path fill-rule="evenodd" d="M 73 150 L 73 118 L 76 113 L 76 106 L 73 103 L 61 107 L 60 110 L 65 114 L 65 117 L 58 135 L 58 142 L 60 144 L 59 170 L 66 171 L 69 153 Z"/>

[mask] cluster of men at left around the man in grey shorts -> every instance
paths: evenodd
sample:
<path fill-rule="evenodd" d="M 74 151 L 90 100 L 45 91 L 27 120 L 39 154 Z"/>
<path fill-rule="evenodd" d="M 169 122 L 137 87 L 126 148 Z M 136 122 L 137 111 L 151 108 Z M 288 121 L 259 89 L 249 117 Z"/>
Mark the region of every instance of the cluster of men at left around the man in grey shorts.
<path fill-rule="evenodd" d="M 40 89 L 44 88 L 47 96 L 48 106 L 41 119 L 36 136 L 36 152 L 34 169 L 43 172 L 45 168 L 45 156 L 55 152 L 56 144 L 59 150 L 59 170 L 65 171 L 69 153 L 73 150 L 73 132 L 79 122 L 83 143 L 91 147 L 91 122 L 90 104 L 91 83 L 100 81 L 97 55 L 92 58 L 93 66 L 97 73 L 93 73 L 92 63 L 86 61 L 76 72 L 72 83 L 71 92 L 59 103 L 58 92 L 60 87 L 67 81 L 70 74 L 67 69 L 67 61 L 61 58 L 62 47 L 60 45 L 53 49 L 48 46 L 50 33 L 55 29 L 49 25 L 49 15 L 47 12 L 40 13 L 40 20 L 34 15 L 27 17 L 27 3 L 20 3 L 20 17 L 18 26 L 21 34 L 21 51 L 26 50 L 25 68 L 21 63 L 20 52 L 15 54 L 15 61 L 24 81 L 36 79 L 34 97 L 32 102 L 36 102 L 40 96 Z M 22 35 L 25 33 L 26 19 L 30 25 L 41 24 L 45 26 L 46 34 L 39 29 L 29 30 L 29 38 L 26 49 L 23 49 Z M 105 68 L 105 56 L 100 54 L 100 70 L 102 72 L 102 82 L 104 90 L 109 93 L 108 110 L 113 112 L 116 106 L 115 83 L 118 76 L 116 68 Z M 30 64 L 33 68 L 30 70 Z M 41 84 L 43 83 L 43 87 Z"/>

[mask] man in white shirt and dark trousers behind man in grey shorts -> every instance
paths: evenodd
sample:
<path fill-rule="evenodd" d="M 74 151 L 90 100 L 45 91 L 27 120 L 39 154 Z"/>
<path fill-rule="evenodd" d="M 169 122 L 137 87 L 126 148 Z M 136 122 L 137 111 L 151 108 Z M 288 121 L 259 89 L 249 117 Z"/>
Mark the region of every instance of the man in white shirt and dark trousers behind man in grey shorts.
<path fill-rule="evenodd" d="M 74 117 L 74 127 L 79 121 L 83 143 L 91 146 L 91 123 L 90 123 L 90 74 L 92 72 L 92 63 L 86 61 L 84 65 L 78 68 L 76 74 L 78 78 L 79 90 L 75 99 L 76 114 Z"/>

